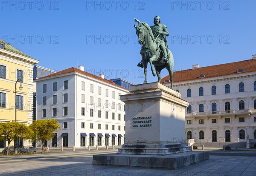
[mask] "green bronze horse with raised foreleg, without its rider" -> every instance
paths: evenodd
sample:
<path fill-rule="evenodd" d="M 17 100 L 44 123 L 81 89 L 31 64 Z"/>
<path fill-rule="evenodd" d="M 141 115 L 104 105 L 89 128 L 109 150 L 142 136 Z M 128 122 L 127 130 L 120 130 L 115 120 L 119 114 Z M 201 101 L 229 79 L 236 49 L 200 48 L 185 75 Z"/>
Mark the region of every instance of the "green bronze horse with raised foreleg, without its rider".
<path fill-rule="evenodd" d="M 159 50 L 157 50 L 157 44 L 155 42 L 155 38 L 153 36 L 152 30 L 150 26 L 148 26 L 147 23 L 142 23 L 139 20 L 135 19 L 135 22 L 138 23 L 137 26 L 134 25 L 136 28 L 136 34 L 139 38 L 139 43 L 142 45 L 142 49 L 140 50 L 140 54 L 142 56 L 142 63 L 144 68 L 144 74 L 145 74 L 145 81 L 144 84 L 147 83 L 147 67 L 148 62 L 151 66 L 151 71 L 153 76 L 155 77 L 157 75 L 158 82 L 161 82 L 161 76 L 160 72 L 163 70 L 163 68 L 166 68 L 170 75 L 170 81 L 171 81 L 171 88 L 172 88 L 172 75 L 173 75 L 173 56 L 172 52 L 169 51 L 169 57 L 168 61 L 165 63 L 163 62 L 163 54 Z M 154 68 L 156 69 L 156 72 L 154 71 Z"/>

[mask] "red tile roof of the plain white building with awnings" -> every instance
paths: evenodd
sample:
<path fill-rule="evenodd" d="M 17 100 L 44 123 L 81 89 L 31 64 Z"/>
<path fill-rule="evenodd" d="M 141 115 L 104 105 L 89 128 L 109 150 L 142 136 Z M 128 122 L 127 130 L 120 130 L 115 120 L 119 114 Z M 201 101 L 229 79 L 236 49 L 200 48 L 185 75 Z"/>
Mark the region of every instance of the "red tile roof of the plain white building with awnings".
<path fill-rule="evenodd" d="M 85 75 L 86 77 L 91 77 L 91 78 L 94 78 L 94 79 L 98 79 L 98 80 L 100 80 L 100 81 L 106 82 L 106 83 L 108 83 L 108 84 L 111 84 L 111 85 L 114 85 L 114 86 L 116 86 L 116 87 L 119 87 L 119 88 L 122 88 L 122 89 L 125 89 L 125 90 L 129 91 L 128 89 L 126 89 L 126 88 L 124 88 L 124 87 L 122 87 L 122 86 L 120 86 L 120 85 L 117 85 L 117 84 L 114 83 L 113 81 L 110 81 L 110 80 L 108 80 L 108 79 L 104 79 L 104 78 L 98 77 L 98 76 L 96 76 L 96 75 L 94 75 L 94 74 L 90 74 L 90 73 L 88 73 L 88 72 L 86 72 L 86 71 L 81 71 L 80 69 L 75 68 L 75 67 L 67 68 L 67 69 L 65 69 L 65 70 L 59 71 L 59 72 L 54 73 L 54 74 L 47 75 L 47 76 L 45 76 L 45 77 L 38 78 L 38 79 L 36 79 L 36 80 L 44 79 L 44 78 L 49 78 L 49 77 L 55 77 L 55 76 L 62 75 L 62 74 L 75 73 L 75 72 L 80 73 L 80 74 L 83 74 L 83 75 Z"/>

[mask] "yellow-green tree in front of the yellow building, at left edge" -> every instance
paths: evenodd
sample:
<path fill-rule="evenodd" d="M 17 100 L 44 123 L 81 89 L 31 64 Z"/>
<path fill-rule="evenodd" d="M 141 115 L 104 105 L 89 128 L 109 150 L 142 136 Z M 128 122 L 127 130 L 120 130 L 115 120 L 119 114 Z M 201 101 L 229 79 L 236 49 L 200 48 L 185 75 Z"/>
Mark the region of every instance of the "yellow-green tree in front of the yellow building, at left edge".
<path fill-rule="evenodd" d="M 29 139 L 31 135 L 32 131 L 25 124 L 18 122 L 0 123 L 0 139 L 8 142 L 7 155 L 9 153 L 10 143 L 16 136 L 20 136 L 23 139 Z"/>

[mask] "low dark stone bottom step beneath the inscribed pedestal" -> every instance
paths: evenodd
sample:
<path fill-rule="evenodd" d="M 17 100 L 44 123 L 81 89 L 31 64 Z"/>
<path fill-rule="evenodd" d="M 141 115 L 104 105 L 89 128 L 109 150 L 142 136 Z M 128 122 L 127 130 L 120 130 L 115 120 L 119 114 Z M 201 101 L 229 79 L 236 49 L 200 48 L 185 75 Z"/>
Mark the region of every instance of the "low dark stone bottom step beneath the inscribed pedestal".
<path fill-rule="evenodd" d="M 209 159 L 209 151 L 190 151 L 172 155 L 93 155 L 93 165 L 177 169 Z"/>

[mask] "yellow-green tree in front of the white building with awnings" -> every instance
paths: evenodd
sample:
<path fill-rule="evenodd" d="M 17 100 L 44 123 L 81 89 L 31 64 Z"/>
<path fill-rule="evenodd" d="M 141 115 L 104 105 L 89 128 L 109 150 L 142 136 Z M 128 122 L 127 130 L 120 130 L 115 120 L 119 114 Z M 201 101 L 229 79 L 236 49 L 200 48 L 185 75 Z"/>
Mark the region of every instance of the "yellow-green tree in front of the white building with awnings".
<path fill-rule="evenodd" d="M 54 132 L 58 129 L 61 130 L 58 121 L 55 119 L 35 120 L 29 127 L 35 135 L 34 139 L 42 143 L 41 153 L 44 153 L 44 141 L 52 139 Z"/>

